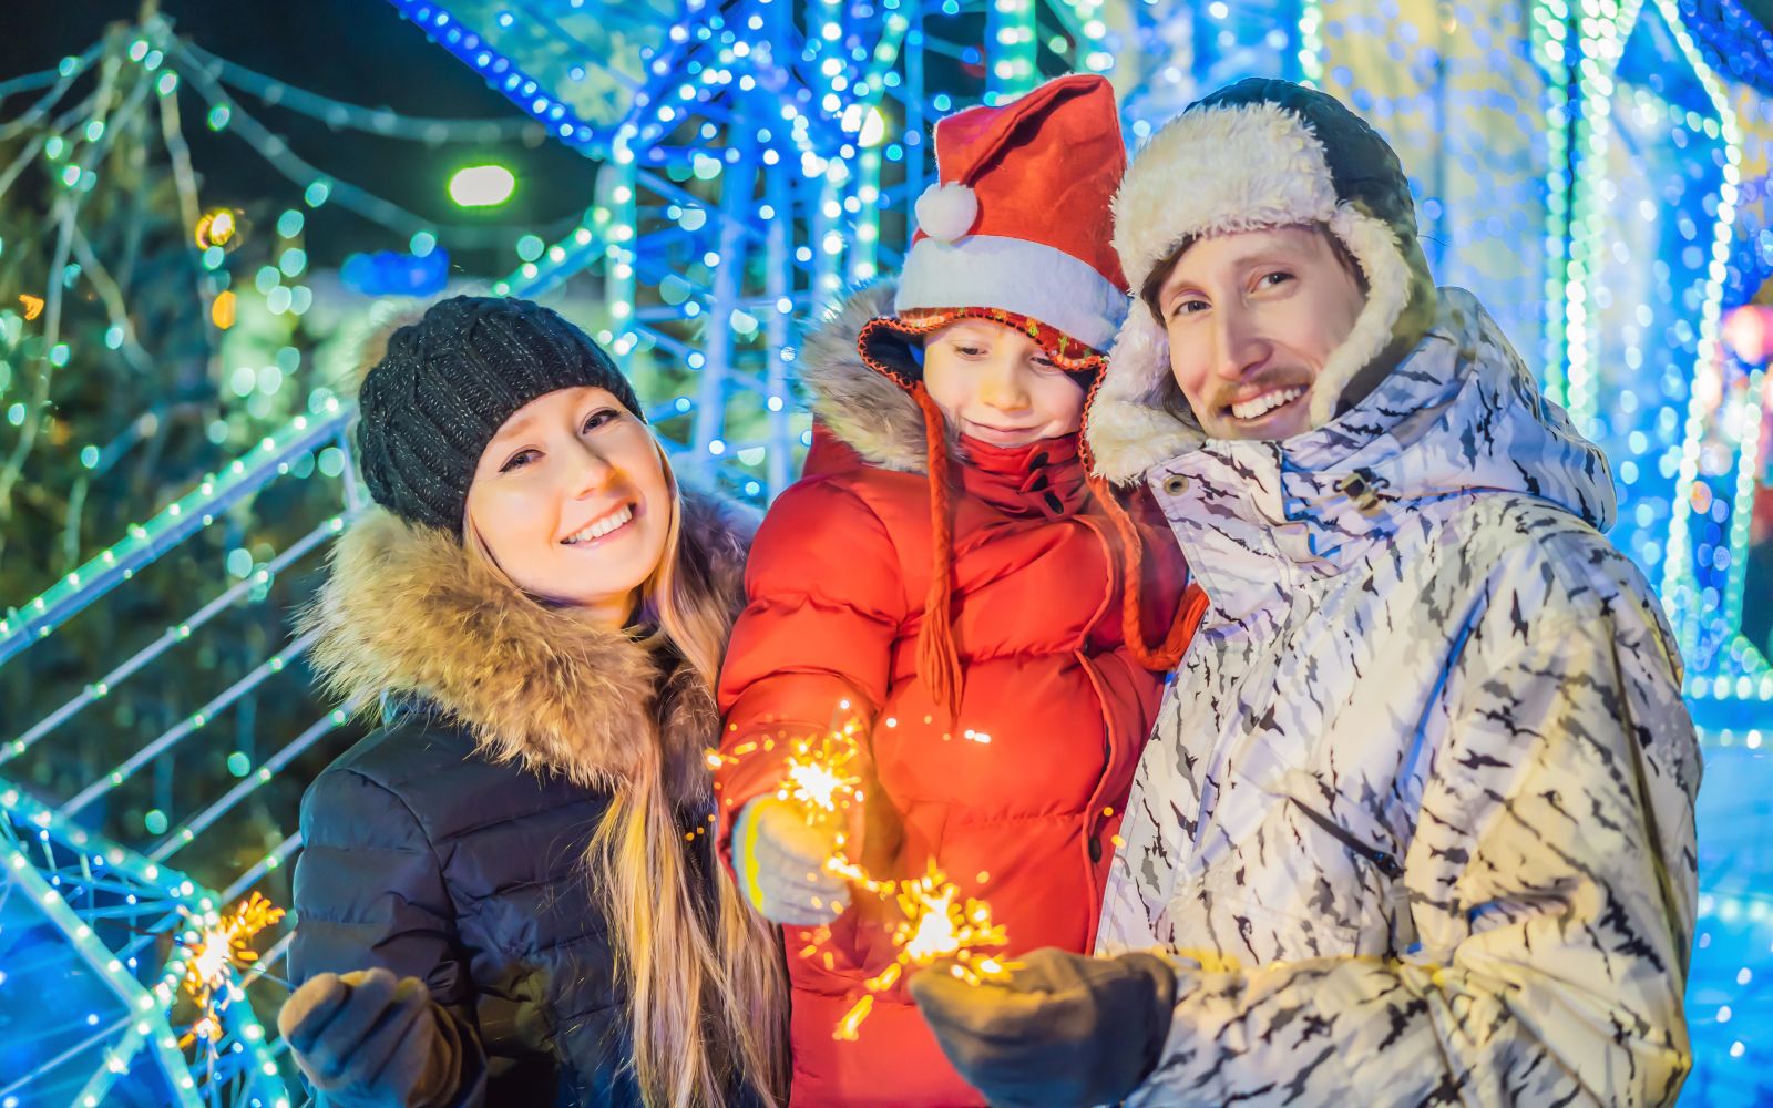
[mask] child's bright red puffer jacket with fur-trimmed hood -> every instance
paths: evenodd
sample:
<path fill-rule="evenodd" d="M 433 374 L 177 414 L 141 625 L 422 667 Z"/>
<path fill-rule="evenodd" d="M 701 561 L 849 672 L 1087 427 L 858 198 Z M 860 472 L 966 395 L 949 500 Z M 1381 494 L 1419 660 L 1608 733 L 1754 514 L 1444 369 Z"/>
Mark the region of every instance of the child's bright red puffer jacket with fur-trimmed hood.
<path fill-rule="evenodd" d="M 782 739 L 858 718 L 871 739 L 871 874 L 918 876 L 933 858 L 963 895 L 989 902 L 1009 954 L 1089 950 L 1163 674 L 1122 644 L 1121 537 L 1085 486 L 1078 436 L 1021 449 L 959 440 L 966 461 L 950 466 L 949 498 L 963 693 L 952 723 L 933 700 L 917 672 L 933 574 L 924 420 L 855 347 L 858 328 L 890 305 L 888 285 L 867 289 L 807 344 L 814 411 L 860 463 L 817 452 L 830 472 L 787 489 L 752 546 L 750 605 L 720 681 L 722 851 L 730 860 L 739 808 L 780 784 Z M 1138 527 L 1144 626 L 1161 638 L 1186 574 L 1161 519 Z M 982 1103 L 902 982 L 876 996 L 860 1041 L 833 1041 L 862 982 L 894 961 L 892 924 L 894 909 L 858 895 L 828 938 L 787 929 L 793 1104 Z"/>

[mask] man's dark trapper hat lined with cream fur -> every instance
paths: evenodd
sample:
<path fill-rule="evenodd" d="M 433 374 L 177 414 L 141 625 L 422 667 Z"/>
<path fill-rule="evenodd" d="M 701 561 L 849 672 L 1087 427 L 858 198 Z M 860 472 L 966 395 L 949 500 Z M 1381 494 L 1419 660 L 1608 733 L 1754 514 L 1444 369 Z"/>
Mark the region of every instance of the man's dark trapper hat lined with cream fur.
<path fill-rule="evenodd" d="M 1392 147 L 1339 99 L 1293 82 L 1248 78 L 1195 101 L 1133 156 L 1113 200 L 1113 246 L 1133 289 L 1199 238 L 1319 223 L 1353 255 L 1367 305 L 1312 385 L 1312 425 L 1381 358 L 1401 358 L 1434 316 L 1434 280 L 1417 241 L 1410 183 Z M 1170 347 L 1135 300 L 1092 397 L 1085 440 L 1117 482 L 1200 441 L 1165 410 Z"/>

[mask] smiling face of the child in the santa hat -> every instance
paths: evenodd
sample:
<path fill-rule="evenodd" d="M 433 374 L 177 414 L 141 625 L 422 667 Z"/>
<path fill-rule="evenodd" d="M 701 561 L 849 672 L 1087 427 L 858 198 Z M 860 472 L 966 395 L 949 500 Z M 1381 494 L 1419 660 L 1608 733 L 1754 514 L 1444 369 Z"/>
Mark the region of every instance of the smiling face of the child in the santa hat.
<path fill-rule="evenodd" d="M 961 319 L 924 340 L 924 388 L 963 434 L 1025 447 L 1078 429 L 1083 390 L 1028 335 Z"/>

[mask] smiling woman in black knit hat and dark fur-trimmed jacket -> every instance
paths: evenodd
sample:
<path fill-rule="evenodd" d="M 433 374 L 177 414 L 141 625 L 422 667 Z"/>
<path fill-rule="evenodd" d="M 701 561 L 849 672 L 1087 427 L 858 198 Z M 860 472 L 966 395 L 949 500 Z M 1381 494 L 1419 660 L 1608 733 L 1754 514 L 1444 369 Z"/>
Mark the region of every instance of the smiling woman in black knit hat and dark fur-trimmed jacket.
<path fill-rule="evenodd" d="M 339 1104 L 773 1103 L 778 943 L 713 863 L 704 750 L 750 527 L 523 300 L 397 330 L 379 505 L 307 622 L 395 711 L 309 789 L 278 1026 Z"/>

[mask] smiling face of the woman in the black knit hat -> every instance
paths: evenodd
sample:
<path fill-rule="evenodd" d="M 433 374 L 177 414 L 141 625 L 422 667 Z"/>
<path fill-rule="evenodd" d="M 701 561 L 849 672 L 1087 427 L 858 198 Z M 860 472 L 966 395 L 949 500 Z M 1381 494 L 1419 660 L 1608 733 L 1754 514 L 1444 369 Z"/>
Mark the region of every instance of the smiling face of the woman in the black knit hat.
<path fill-rule="evenodd" d="M 514 411 L 468 486 L 468 527 L 519 589 L 617 628 L 665 553 L 670 512 L 652 433 L 592 386 Z"/>

